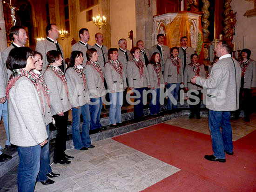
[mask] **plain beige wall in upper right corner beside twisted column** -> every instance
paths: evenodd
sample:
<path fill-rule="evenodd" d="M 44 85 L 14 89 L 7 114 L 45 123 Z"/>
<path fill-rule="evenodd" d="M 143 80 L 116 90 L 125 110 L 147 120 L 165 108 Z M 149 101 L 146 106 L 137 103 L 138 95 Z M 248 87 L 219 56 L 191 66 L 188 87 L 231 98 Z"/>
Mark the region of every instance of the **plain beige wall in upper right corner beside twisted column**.
<path fill-rule="evenodd" d="M 237 12 L 236 34 L 233 36 L 233 43 L 236 41 L 236 50 L 239 48 L 238 43 L 240 41 L 241 49 L 250 49 L 250 58 L 256 60 L 256 16 L 243 16 L 246 11 L 254 9 L 254 3 L 245 0 L 232 0 L 231 7 L 233 9 L 233 13 Z"/>

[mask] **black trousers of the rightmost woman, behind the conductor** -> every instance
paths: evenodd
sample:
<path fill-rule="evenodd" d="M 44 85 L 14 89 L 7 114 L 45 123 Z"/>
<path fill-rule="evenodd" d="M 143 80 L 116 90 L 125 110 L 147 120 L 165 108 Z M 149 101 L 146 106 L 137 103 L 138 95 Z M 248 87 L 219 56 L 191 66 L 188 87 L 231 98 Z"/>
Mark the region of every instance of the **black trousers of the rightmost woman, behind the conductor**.
<path fill-rule="evenodd" d="M 240 111 L 243 109 L 244 118 L 249 118 L 251 113 L 251 99 L 252 99 L 252 90 L 240 88 L 239 92 L 239 109 L 235 111 L 234 117 L 239 118 Z"/>

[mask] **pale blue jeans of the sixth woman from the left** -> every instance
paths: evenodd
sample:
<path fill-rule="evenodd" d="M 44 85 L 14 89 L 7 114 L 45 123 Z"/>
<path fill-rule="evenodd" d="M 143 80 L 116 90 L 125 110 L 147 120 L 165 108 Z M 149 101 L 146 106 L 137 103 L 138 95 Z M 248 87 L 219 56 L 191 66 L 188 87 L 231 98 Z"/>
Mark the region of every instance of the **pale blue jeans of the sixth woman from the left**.
<path fill-rule="evenodd" d="M 123 103 L 123 92 L 109 93 L 109 124 L 121 123 L 121 106 Z"/>

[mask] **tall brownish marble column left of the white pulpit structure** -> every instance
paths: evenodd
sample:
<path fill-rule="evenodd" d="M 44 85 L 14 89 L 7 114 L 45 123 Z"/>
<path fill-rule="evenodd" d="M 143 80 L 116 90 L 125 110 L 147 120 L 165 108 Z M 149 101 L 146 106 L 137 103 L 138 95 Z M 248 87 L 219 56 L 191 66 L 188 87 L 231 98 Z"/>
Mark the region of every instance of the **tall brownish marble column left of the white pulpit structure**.
<path fill-rule="evenodd" d="M 135 17 L 136 17 L 136 37 L 137 40 L 144 41 L 145 47 L 150 49 L 152 46 L 153 33 L 153 9 L 152 0 L 150 0 L 150 7 L 148 0 L 135 0 Z"/>

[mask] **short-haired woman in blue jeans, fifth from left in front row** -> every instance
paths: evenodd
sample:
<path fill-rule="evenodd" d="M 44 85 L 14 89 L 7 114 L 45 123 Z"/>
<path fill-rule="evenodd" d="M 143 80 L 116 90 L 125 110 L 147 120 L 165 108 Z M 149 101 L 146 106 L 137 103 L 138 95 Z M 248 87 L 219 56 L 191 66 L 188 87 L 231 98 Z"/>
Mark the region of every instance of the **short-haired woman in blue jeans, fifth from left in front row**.
<path fill-rule="evenodd" d="M 87 79 L 89 97 L 90 97 L 90 114 L 91 114 L 91 132 L 101 132 L 105 130 L 105 126 L 101 126 L 101 108 L 102 99 L 106 95 L 104 86 L 104 77 L 101 66 L 97 63 L 97 50 L 90 48 L 86 52 L 87 63 L 85 65 L 85 77 Z"/>

